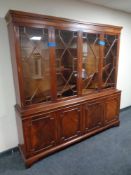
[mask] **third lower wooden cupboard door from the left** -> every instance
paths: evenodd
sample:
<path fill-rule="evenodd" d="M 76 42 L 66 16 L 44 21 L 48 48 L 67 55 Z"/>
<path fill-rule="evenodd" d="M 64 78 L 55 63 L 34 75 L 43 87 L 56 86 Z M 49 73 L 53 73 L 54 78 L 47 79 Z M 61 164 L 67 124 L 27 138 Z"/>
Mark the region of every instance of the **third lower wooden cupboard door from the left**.
<path fill-rule="evenodd" d="M 84 105 L 84 129 L 85 132 L 100 128 L 103 124 L 103 104 L 92 102 Z"/>

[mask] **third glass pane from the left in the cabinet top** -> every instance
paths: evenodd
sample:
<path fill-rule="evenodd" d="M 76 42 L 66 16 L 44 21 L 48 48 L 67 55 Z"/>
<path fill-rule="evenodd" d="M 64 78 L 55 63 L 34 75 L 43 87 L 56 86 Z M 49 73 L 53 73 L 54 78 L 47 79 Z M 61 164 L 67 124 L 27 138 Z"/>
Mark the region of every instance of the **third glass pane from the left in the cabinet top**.
<path fill-rule="evenodd" d="M 98 88 L 99 35 L 83 33 L 82 94 Z"/>

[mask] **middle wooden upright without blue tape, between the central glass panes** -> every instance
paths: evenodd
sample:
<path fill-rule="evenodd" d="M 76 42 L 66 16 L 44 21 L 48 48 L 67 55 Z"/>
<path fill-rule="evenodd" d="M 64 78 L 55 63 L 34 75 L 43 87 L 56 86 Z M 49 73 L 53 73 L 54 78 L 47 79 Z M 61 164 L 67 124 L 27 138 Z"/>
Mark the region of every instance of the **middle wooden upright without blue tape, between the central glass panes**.
<path fill-rule="evenodd" d="M 77 38 L 77 71 L 78 71 L 78 77 L 77 77 L 77 90 L 78 90 L 78 96 L 82 95 L 82 47 L 83 47 L 83 39 L 82 39 L 83 32 L 78 32 L 78 38 Z"/>

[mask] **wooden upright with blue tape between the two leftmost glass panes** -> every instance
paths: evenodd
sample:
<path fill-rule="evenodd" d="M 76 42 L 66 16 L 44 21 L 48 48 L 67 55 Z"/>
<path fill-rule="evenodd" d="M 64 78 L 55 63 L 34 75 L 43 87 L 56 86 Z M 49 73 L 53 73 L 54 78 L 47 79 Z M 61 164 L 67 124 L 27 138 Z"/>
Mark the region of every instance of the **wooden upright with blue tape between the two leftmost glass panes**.
<path fill-rule="evenodd" d="M 55 66 L 55 29 L 53 27 L 48 28 L 48 47 L 50 57 L 50 81 L 51 81 L 51 97 L 52 101 L 57 99 L 56 88 L 56 66 Z"/>

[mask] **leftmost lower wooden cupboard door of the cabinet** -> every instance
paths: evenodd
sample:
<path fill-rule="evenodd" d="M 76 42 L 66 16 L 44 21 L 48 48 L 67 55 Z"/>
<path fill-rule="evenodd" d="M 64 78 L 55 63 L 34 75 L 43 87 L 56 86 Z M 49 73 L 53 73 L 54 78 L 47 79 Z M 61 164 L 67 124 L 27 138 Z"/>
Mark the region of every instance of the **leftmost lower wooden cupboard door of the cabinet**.
<path fill-rule="evenodd" d="M 54 113 L 43 114 L 32 119 L 31 150 L 35 153 L 53 147 L 56 143 L 57 129 Z"/>

